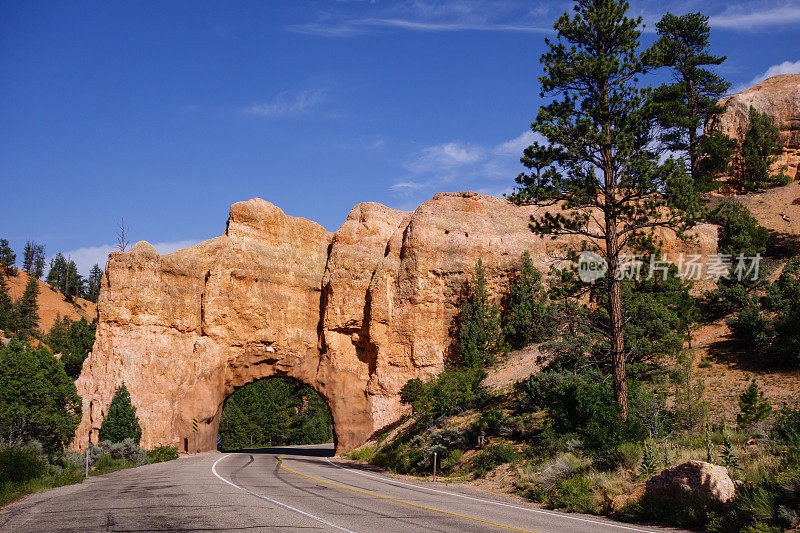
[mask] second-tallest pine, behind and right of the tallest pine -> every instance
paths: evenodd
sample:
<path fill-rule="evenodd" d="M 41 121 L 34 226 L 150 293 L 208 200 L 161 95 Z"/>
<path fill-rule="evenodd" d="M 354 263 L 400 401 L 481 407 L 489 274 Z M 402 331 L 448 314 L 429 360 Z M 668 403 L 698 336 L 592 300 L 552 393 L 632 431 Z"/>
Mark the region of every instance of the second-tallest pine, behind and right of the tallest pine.
<path fill-rule="evenodd" d="M 673 78 L 653 91 L 661 141 L 668 150 L 685 154 L 693 187 L 707 192 L 716 188 L 715 178 L 727 169 L 735 146 L 721 133 L 702 135 L 703 126 L 724 112 L 717 102 L 730 87 L 706 67 L 721 65 L 726 57 L 709 53 L 708 17 L 700 13 L 667 13 L 656 23 L 656 33 L 659 38 L 645 60 L 669 68 Z"/>

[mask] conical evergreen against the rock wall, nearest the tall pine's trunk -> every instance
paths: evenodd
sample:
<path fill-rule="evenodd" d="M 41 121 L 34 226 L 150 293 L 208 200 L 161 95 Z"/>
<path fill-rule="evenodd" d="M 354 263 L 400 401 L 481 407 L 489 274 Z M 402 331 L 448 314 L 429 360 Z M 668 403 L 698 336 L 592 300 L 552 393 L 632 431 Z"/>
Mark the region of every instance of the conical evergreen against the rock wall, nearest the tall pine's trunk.
<path fill-rule="evenodd" d="M 509 287 L 503 314 L 503 338 L 515 349 L 541 342 L 555 327 L 547 292 L 528 252 L 522 254 L 520 271 Z"/>

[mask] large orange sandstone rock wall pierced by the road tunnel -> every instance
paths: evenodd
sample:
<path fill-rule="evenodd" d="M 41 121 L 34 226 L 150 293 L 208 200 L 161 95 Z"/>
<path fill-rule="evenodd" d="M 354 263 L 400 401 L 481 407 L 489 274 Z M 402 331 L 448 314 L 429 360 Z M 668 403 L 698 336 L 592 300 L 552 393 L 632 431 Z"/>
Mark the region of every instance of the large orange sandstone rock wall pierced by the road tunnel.
<path fill-rule="evenodd" d="M 499 292 L 528 251 L 547 271 L 566 241 L 528 229 L 531 214 L 476 193 L 437 194 L 413 213 L 356 206 L 331 234 L 253 199 L 231 207 L 224 235 L 159 256 L 138 243 L 106 265 L 97 340 L 78 379 L 75 444 L 96 441 L 116 387 L 128 387 L 145 447 L 216 445 L 226 398 L 273 376 L 325 398 L 337 450 L 407 411 L 398 391 L 439 373 L 457 302 L 475 263 Z M 551 208 L 552 209 L 552 208 Z M 557 208 L 556 208 L 557 209 Z M 669 253 L 716 253 L 716 227 Z"/>

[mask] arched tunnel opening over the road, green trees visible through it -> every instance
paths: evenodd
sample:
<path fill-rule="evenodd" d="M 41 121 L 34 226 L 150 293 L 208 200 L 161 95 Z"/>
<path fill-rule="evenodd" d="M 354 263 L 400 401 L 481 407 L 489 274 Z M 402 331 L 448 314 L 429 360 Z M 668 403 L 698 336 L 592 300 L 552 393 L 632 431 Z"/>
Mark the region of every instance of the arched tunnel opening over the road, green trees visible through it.
<path fill-rule="evenodd" d="M 333 416 L 325 398 L 300 381 L 278 376 L 230 394 L 217 432 L 222 451 L 334 441 Z"/>

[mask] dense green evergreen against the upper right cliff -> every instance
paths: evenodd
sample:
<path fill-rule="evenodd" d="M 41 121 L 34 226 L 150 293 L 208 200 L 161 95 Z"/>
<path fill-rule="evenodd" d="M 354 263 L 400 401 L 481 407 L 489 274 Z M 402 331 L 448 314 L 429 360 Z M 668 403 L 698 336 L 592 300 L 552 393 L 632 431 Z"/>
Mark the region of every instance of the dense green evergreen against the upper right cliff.
<path fill-rule="evenodd" d="M 783 149 L 780 130 L 772 117 L 750 107 L 750 127 L 741 146 L 739 181 L 745 191 L 759 191 L 788 183 L 788 176 L 773 176 L 770 168 Z"/>

